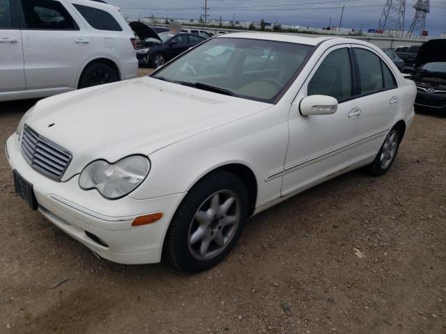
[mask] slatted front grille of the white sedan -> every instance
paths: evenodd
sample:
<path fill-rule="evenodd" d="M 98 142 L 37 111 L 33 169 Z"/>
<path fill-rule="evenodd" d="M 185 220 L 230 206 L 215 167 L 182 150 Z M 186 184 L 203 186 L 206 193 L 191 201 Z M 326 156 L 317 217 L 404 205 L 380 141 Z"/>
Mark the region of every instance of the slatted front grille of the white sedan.
<path fill-rule="evenodd" d="M 20 148 L 34 169 L 54 180 L 61 180 L 72 158 L 69 151 L 40 136 L 27 125 L 23 129 Z"/>

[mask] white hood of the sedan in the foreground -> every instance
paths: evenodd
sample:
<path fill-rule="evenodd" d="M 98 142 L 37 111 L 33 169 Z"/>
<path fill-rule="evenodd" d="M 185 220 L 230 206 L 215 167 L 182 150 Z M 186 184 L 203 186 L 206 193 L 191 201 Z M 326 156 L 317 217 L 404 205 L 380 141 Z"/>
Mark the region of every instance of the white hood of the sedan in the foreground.
<path fill-rule="evenodd" d="M 26 124 L 72 153 L 65 181 L 95 159 L 148 155 L 270 106 L 144 77 L 41 100 Z"/>

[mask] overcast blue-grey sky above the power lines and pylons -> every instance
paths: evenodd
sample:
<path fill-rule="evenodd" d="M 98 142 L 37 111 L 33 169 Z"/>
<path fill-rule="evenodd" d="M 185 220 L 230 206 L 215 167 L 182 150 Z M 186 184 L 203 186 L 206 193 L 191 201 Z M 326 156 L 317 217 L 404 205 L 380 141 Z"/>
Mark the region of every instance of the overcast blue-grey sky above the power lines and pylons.
<path fill-rule="evenodd" d="M 205 0 L 109 0 L 121 7 L 127 17 L 156 17 L 198 19 L 203 14 Z M 397 1 L 397 0 L 393 0 Z M 413 5 L 417 0 L 406 0 L 405 29 L 415 15 Z M 208 0 L 210 19 L 279 22 L 300 26 L 322 28 L 328 26 L 332 15 L 332 26 L 339 26 L 341 8 L 344 15 L 341 26 L 359 30 L 377 29 L 385 0 Z M 446 33 L 446 0 L 430 0 L 430 13 L 426 16 L 429 35 Z"/>

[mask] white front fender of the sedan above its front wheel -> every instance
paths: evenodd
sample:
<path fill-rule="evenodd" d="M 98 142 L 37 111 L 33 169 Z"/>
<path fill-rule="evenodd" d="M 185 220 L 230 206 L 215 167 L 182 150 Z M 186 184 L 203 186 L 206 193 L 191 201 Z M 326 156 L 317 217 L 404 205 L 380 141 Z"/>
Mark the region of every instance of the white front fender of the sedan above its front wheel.
<path fill-rule="evenodd" d="M 272 106 L 153 152 L 151 173 L 130 196 L 146 199 L 183 193 L 212 170 L 243 164 L 256 177 L 256 206 L 278 198 L 282 180 L 265 182 L 265 177 L 284 166 L 287 116 L 284 106 Z"/>

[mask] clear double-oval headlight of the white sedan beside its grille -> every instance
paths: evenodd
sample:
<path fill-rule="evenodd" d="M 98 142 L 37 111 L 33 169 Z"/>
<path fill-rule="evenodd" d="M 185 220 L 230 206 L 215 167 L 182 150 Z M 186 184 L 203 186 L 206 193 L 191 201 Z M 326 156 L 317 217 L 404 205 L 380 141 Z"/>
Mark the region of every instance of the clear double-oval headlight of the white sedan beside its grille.
<path fill-rule="evenodd" d="M 96 160 L 82 170 L 79 186 L 84 190 L 97 189 L 105 198 L 116 200 L 137 189 L 150 169 L 150 161 L 142 155 L 132 155 L 114 164 Z"/>

